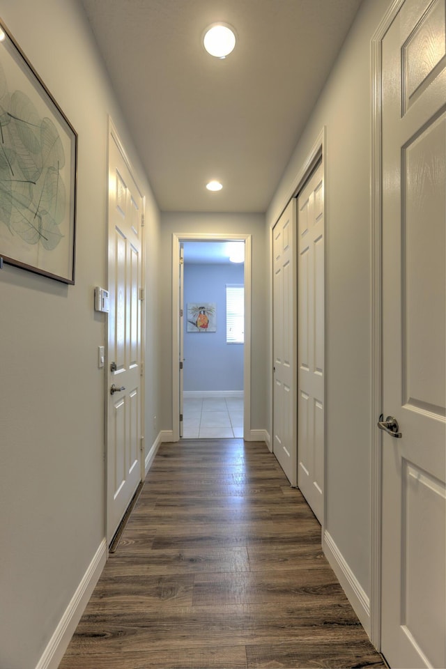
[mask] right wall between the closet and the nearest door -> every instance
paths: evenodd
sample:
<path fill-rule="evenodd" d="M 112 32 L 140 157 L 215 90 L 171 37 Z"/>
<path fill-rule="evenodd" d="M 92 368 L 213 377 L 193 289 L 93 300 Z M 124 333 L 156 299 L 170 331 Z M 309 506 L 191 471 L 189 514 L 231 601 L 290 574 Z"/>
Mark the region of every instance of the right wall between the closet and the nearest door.
<path fill-rule="evenodd" d="M 390 0 L 364 0 L 272 199 L 286 203 L 326 126 L 326 529 L 370 593 L 371 37 Z M 270 384 L 269 386 L 270 387 Z"/>

